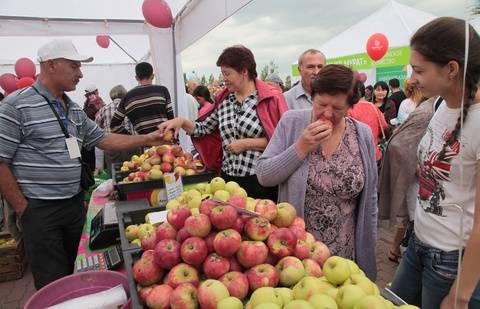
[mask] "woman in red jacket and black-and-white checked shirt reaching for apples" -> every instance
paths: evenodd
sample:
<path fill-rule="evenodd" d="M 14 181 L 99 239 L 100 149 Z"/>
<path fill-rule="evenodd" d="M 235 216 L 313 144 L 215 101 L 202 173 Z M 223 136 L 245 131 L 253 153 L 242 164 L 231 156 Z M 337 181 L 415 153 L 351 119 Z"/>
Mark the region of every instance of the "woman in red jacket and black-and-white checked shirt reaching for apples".
<path fill-rule="evenodd" d="M 162 123 L 160 131 L 182 128 L 207 168 L 225 181 L 236 181 L 248 195 L 276 201 L 277 188 L 258 183 L 255 166 L 288 109 L 281 93 L 257 79 L 252 52 L 241 45 L 226 48 L 217 60 L 226 89 L 197 121 L 178 117 Z"/>

